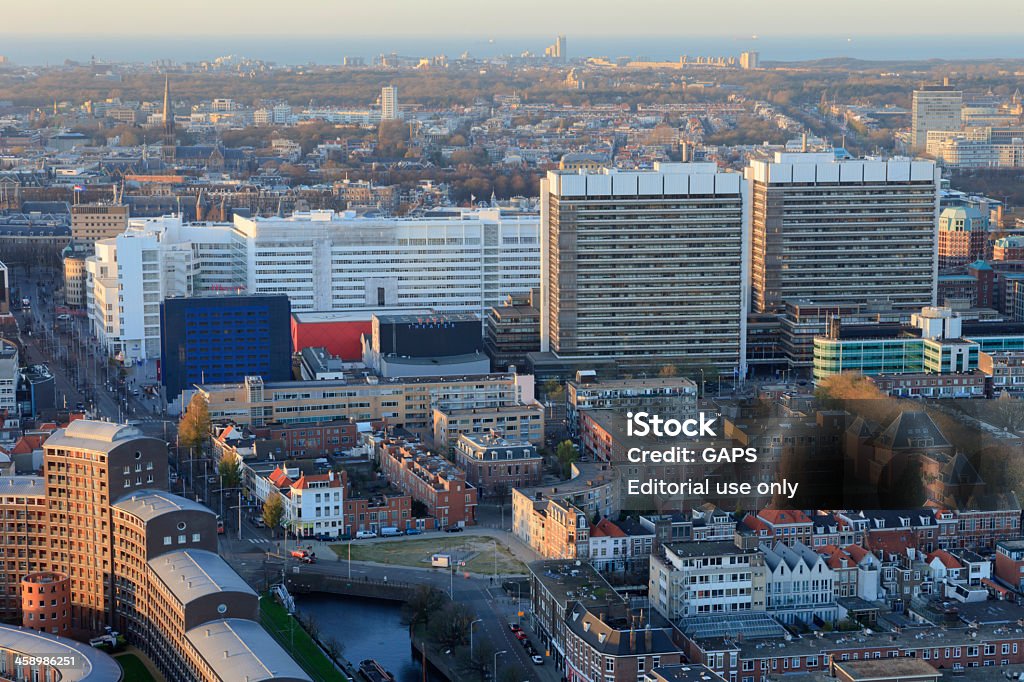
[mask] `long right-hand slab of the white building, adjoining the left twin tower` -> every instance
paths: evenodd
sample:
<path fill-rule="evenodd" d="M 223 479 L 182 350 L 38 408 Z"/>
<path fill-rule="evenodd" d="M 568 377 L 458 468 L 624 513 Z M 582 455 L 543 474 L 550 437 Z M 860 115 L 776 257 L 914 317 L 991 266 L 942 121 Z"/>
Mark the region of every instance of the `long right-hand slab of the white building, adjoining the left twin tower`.
<path fill-rule="evenodd" d="M 253 294 L 288 294 L 292 310 L 431 308 L 481 316 L 540 284 L 540 221 L 501 209 L 418 218 L 311 211 L 236 216 Z"/>

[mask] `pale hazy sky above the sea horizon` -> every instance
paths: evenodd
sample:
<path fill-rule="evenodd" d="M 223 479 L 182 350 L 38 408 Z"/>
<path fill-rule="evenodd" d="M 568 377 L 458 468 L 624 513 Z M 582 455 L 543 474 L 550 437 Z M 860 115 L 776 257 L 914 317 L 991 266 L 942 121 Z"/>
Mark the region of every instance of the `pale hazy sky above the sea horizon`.
<path fill-rule="evenodd" d="M 977 36 L 1019 32 L 1024 26 L 1021 0 L 2 0 L 2 4 L 6 6 L 0 16 L 6 26 L 0 25 L 0 35 L 22 36 Z M 963 20 L 965 10 L 973 20 Z"/>

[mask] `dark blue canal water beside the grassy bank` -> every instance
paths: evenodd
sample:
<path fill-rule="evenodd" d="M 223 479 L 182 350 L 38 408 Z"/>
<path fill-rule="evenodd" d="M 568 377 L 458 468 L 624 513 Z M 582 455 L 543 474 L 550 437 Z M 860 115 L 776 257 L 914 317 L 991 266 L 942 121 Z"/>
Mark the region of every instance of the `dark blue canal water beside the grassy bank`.
<path fill-rule="evenodd" d="M 332 594 L 295 595 L 300 611 L 312 613 L 322 637 L 334 636 L 344 642 L 344 655 L 358 666 L 375 658 L 394 673 L 398 682 L 422 682 L 423 671 L 413 656 L 409 629 L 401 622 L 401 604 L 396 601 L 359 599 Z M 427 673 L 428 682 L 441 677 Z"/>

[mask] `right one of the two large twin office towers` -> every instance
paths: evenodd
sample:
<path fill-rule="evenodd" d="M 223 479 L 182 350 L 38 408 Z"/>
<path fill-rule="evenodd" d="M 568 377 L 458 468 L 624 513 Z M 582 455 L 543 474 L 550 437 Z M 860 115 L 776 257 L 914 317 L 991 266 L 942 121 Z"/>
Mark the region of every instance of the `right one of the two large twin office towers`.
<path fill-rule="evenodd" d="M 934 304 L 934 163 L 777 153 L 752 162 L 746 179 L 755 312 L 781 313 L 798 299 L 909 311 Z"/>

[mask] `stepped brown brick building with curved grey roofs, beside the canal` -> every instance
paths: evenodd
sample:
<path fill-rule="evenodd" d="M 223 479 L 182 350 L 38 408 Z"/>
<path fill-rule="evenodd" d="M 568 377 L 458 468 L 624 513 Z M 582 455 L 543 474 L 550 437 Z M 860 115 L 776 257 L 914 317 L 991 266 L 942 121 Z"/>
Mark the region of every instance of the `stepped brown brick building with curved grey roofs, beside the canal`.
<path fill-rule="evenodd" d="M 3 616 L 19 615 L 23 579 L 52 574 L 68 581 L 60 620 L 71 633 L 113 627 L 167 679 L 308 682 L 259 625 L 256 593 L 218 556 L 216 515 L 166 487 L 164 441 L 108 422 L 57 429 L 42 476 L 0 477 Z"/>

